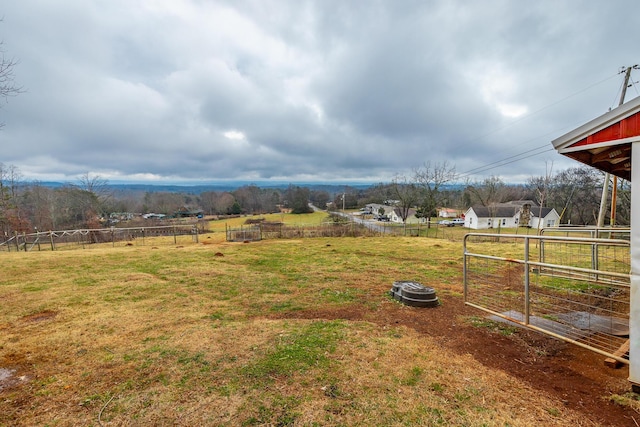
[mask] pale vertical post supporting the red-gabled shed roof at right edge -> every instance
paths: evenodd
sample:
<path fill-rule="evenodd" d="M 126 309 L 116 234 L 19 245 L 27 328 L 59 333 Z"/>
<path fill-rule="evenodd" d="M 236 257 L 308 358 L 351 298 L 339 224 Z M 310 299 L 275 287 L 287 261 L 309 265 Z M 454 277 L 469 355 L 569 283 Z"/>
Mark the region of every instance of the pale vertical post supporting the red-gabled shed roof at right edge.
<path fill-rule="evenodd" d="M 631 180 L 640 183 L 640 142 L 631 147 Z M 640 186 L 631 186 L 631 296 L 629 301 L 629 381 L 640 391 Z"/>

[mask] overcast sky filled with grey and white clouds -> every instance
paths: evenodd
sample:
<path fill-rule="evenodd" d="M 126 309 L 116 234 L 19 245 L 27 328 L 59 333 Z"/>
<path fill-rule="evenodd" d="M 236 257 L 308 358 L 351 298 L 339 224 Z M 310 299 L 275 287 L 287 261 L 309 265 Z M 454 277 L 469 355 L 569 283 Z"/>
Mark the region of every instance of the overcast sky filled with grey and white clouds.
<path fill-rule="evenodd" d="M 26 180 L 376 183 L 447 161 L 521 182 L 577 166 L 551 141 L 616 107 L 640 63 L 637 0 L 20 0 L 0 16 L 25 90 L 0 104 L 0 163 Z"/>

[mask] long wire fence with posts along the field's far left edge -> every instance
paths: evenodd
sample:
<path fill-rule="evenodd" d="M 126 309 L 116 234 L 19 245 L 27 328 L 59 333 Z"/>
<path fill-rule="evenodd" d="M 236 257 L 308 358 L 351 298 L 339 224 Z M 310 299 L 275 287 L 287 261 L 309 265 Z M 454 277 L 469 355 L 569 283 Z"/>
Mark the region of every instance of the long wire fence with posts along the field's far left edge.
<path fill-rule="evenodd" d="M 0 252 L 57 251 L 97 245 L 144 246 L 197 243 L 205 222 L 152 227 L 100 228 L 14 234 L 0 242 Z"/>

